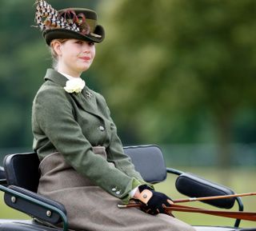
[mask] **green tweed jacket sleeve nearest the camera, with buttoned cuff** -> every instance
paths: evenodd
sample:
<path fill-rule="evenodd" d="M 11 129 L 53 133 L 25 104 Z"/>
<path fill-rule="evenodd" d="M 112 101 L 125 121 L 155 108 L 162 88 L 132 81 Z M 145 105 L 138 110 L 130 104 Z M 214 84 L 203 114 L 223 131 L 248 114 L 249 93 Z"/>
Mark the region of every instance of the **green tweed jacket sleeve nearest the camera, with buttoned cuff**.
<path fill-rule="evenodd" d="M 52 86 L 38 92 L 32 114 L 38 129 L 46 134 L 58 152 L 62 153 L 66 161 L 79 173 L 114 197 L 127 198 L 134 185 L 139 184 L 135 178 L 136 174 L 128 175 L 93 153 L 90 142 L 74 120 L 73 108 L 66 94 L 64 90 L 56 90 L 56 87 Z"/>

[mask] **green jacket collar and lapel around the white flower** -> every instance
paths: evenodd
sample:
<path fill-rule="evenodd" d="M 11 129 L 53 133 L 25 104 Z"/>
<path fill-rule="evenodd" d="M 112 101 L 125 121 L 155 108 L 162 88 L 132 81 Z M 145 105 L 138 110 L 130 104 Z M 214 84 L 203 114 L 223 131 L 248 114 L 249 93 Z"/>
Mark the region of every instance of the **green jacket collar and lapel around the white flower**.
<path fill-rule="evenodd" d="M 57 83 L 59 86 L 66 86 L 66 77 L 58 73 L 58 71 L 53 69 L 48 69 L 46 72 L 45 81 L 50 80 L 51 82 Z M 63 89 L 64 90 L 64 89 Z M 71 93 L 70 96 L 74 98 L 74 101 L 86 112 L 94 114 L 97 117 L 101 117 L 98 113 L 98 106 L 96 102 L 95 95 L 90 92 L 90 89 L 85 86 L 81 93 Z"/>

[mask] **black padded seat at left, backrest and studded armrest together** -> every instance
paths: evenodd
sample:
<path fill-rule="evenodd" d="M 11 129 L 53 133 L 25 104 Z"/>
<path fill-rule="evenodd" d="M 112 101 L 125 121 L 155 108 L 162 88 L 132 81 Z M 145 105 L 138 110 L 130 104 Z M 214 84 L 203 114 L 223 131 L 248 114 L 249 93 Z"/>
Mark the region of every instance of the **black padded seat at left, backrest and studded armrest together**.
<path fill-rule="evenodd" d="M 7 155 L 3 165 L 8 188 L 1 189 L 5 192 L 6 205 L 35 217 L 38 221 L 52 225 L 62 221 L 67 226 L 64 205 L 37 193 L 40 177 L 37 153 Z"/>

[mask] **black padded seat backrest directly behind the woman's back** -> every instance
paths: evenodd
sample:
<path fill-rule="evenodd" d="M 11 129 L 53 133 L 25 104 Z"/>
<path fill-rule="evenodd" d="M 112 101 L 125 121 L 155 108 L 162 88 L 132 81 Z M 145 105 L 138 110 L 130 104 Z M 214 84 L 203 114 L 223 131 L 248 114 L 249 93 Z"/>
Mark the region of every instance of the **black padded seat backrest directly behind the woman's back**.
<path fill-rule="evenodd" d="M 3 161 L 8 185 L 37 192 L 39 181 L 39 159 L 37 153 L 15 153 L 6 155 Z"/>

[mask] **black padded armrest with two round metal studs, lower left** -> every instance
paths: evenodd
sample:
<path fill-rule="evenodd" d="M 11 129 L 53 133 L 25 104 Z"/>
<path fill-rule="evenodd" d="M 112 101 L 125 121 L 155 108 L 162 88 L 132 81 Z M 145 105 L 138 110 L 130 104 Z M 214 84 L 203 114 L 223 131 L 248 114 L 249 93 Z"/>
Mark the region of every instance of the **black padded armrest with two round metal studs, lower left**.
<path fill-rule="evenodd" d="M 66 220 L 63 223 L 67 225 L 66 209 L 61 203 L 15 185 L 6 189 L 2 190 L 4 201 L 11 208 L 54 225 Z"/>

